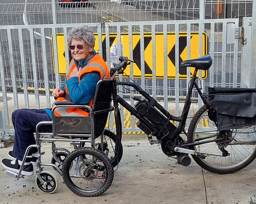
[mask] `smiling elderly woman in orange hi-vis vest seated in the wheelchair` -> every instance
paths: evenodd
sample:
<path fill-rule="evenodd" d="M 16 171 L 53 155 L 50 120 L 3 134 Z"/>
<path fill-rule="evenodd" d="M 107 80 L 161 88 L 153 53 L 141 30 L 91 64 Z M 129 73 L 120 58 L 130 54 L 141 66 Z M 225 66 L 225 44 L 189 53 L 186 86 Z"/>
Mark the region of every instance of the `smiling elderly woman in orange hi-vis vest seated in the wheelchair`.
<path fill-rule="evenodd" d="M 88 26 L 72 28 L 68 33 L 68 47 L 72 60 L 69 64 L 67 81 L 61 87 L 53 90 L 56 101 L 71 100 L 78 105 L 92 105 L 97 82 L 109 78 L 108 66 L 101 56 L 94 51 L 95 37 Z M 68 114 L 88 115 L 78 108 L 61 108 L 54 111 L 55 115 Z M 14 148 L 8 153 L 12 159 L 3 159 L 4 168 L 19 172 L 25 151 L 29 145 L 35 144 L 34 132 L 38 122 L 52 120 L 51 109 L 20 109 L 12 113 L 12 123 L 15 129 Z M 51 127 L 45 127 L 47 132 Z M 32 152 L 29 152 L 31 155 Z M 23 175 L 33 175 L 33 165 L 36 157 L 27 158 L 22 170 Z"/>

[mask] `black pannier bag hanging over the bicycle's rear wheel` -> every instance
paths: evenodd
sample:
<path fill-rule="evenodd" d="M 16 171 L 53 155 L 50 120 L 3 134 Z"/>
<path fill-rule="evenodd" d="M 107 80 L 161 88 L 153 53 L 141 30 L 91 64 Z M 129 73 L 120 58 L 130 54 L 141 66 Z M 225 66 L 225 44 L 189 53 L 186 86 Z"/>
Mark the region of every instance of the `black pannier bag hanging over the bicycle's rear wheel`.
<path fill-rule="evenodd" d="M 218 130 L 256 125 L 256 89 L 209 88 Z"/>

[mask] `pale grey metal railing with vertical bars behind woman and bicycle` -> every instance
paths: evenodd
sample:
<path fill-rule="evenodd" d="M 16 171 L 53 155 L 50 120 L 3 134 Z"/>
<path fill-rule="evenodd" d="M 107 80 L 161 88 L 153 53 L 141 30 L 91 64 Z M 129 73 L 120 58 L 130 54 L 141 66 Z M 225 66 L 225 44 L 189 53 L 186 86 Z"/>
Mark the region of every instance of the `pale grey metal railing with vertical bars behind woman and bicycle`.
<path fill-rule="evenodd" d="M 191 28 L 194 25 L 197 25 L 199 28 L 199 34 L 198 34 L 198 48 L 196 48 L 196 51 L 191 47 L 192 44 L 192 39 L 191 38 Z M 163 89 L 161 90 L 163 101 L 164 101 L 164 107 L 168 109 L 168 98 L 170 95 L 175 96 L 176 100 L 176 115 L 179 114 L 179 98 L 180 96 L 184 93 L 181 91 L 181 85 L 184 85 L 184 87 L 188 86 L 189 79 L 190 79 L 190 70 L 187 69 L 186 71 L 186 76 L 187 80 L 181 80 L 179 79 L 180 75 L 180 70 L 179 70 L 179 64 L 180 64 L 180 49 L 179 49 L 179 44 L 180 44 L 180 39 L 179 39 L 179 33 L 180 33 L 180 26 L 183 25 L 187 29 L 187 37 L 185 37 L 186 41 L 186 49 L 187 49 L 187 54 L 186 57 L 190 58 L 192 55 L 192 52 L 197 52 L 198 56 L 201 56 L 204 53 L 204 50 L 206 48 L 203 48 L 203 27 L 204 25 L 209 24 L 211 27 L 210 32 L 208 33 L 209 37 L 209 44 L 208 46 L 208 52 L 214 59 L 214 63 L 208 73 L 208 85 L 213 86 L 214 83 L 219 83 L 221 86 L 226 86 L 227 83 L 232 81 L 233 86 L 237 86 L 238 82 L 240 81 L 239 78 L 239 70 L 238 70 L 238 57 L 240 56 L 238 53 L 238 39 L 236 40 L 235 38 L 233 39 L 233 42 L 230 42 L 230 36 L 229 36 L 229 42 L 227 42 L 227 32 L 226 29 L 227 27 L 231 24 L 233 27 L 238 26 L 238 19 L 217 19 L 212 22 L 212 20 L 184 20 L 184 21 L 145 21 L 145 22 L 126 22 L 125 26 L 128 27 L 128 44 L 133 44 L 133 32 L 132 32 L 132 27 L 138 26 L 140 30 L 140 35 L 139 35 L 139 40 L 140 40 L 140 68 L 141 68 L 141 79 L 140 79 L 140 85 L 142 86 L 143 89 L 147 88 L 146 87 L 146 78 L 145 78 L 145 60 L 148 56 L 145 56 L 144 54 L 144 44 L 145 39 L 144 39 L 144 26 L 150 26 L 151 27 L 151 46 L 150 46 L 150 51 L 151 52 L 151 62 L 147 60 L 147 62 L 150 64 L 152 68 L 152 78 L 151 78 L 151 94 L 153 97 L 158 96 L 157 92 L 157 68 L 159 68 L 158 64 L 156 62 L 163 62 L 163 78 L 162 78 L 162 87 Z M 215 42 L 215 24 L 220 24 L 222 25 L 223 32 L 222 32 L 222 43 Z M 77 24 L 77 26 L 82 25 L 82 24 Z M 102 26 L 102 24 L 97 24 L 97 23 L 91 23 L 88 24 L 89 26 L 93 27 L 94 30 L 97 31 L 98 34 L 98 44 L 99 44 L 99 52 L 101 55 L 103 55 L 103 47 L 102 47 L 102 40 L 103 36 L 102 33 L 105 33 L 106 35 L 106 62 L 108 66 L 111 66 L 111 58 L 110 58 L 110 30 L 112 28 L 116 29 L 117 33 L 117 55 L 121 55 L 121 27 L 124 26 L 124 23 L 108 23 L 108 26 Z M 160 45 L 160 48 L 162 49 L 162 52 L 159 50 L 159 42 L 156 41 L 156 35 L 157 32 L 155 31 L 155 27 L 157 26 L 162 26 L 163 28 L 163 33 L 162 33 L 162 42 Z M 38 79 L 41 79 L 41 82 L 44 81 L 43 85 L 45 87 L 45 97 L 44 101 L 46 101 L 46 106 L 50 106 L 50 93 L 49 93 L 49 82 L 52 76 L 52 73 L 49 72 L 50 66 L 48 64 L 52 63 L 48 54 L 50 51 L 49 48 L 49 42 L 46 41 L 46 36 L 48 35 L 47 32 L 50 30 L 53 34 L 53 52 L 54 54 L 54 66 L 58 67 L 58 62 L 57 62 L 57 41 L 56 41 L 56 30 L 57 29 L 62 29 L 64 33 L 64 39 L 67 39 L 67 31 L 70 27 L 74 26 L 73 24 L 52 24 L 52 25 L 28 25 L 28 26 L 0 26 L 0 31 L 1 32 L 6 32 L 8 38 L 6 40 L 6 47 L 5 49 L 1 49 L 2 52 L 0 54 L 0 70 L 1 70 L 1 82 L 2 82 L 2 90 L 3 94 L 6 94 L 5 92 L 7 90 L 7 86 L 5 84 L 5 79 L 7 78 L 7 75 L 10 75 L 11 82 L 12 82 L 12 93 L 14 99 L 14 107 L 15 109 L 20 108 L 19 106 L 19 101 L 18 101 L 18 83 L 17 83 L 17 78 L 22 78 L 23 82 L 23 87 L 24 87 L 24 97 L 25 97 L 25 107 L 30 107 L 30 100 L 28 98 L 28 83 L 31 83 L 31 85 L 34 87 L 34 97 L 35 97 L 35 107 L 36 108 L 42 108 L 40 106 L 41 101 L 39 99 L 39 85 L 40 83 L 38 82 Z M 167 35 L 169 32 L 169 28 L 175 27 L 176 33 L 175 33 L 175 47 L 173 48 L 172 46 L 168 46 L 167 43 Z M 184 28 L 183 28 L 184 29 Z M 35 32 L 36 31 L 36 32 Z M 38 35 L 39 34 L 39 35 Z M 18 40 L 16 40 L 18 39 Z M 35 49 L 37 48 L 37 49 Z M 221 49 L 220 49 L 221 48 Z M 109 50 L 109 52 L 108 52 Z M 131 59 L 136 59 L 133 52 L 133 47 L 129 46 L 129 53 L 128 56 Z M 143 51 L 142 51 L 143 50 Z M 173 93 L 170 94 L 168 92 L 168 87 L 170 86 L 170 80 L 168 81 L 167 78 L 167 73 L 169 69 L 169 65 L 171 63 L 171 59 L 168 56 L 170 54 L 170 50 L 173 50 L 173 58 L 175 66 L 174 70 L 174 78 L 172 80 L 171 86 L 174 87 Z M 65 52 L 68 52 L 67 45 L 65 46 Z M 161 53 L 159 55 L 159 53 Z M 8 55 L 5 55 L 8 54 Z M 3 63 L 5 58 L 4 56 L 9 56 L 9 64 L 8 67 L 6 66 L 6 63 Z M 68 65 L 69 60 L 66 58 L 65 64 Z M 31 67 L 31 73 L 28 72 L 27 66 Z M 133 68 L 135 65 L 130 65 L 130 76 L 133 78 Z M 221 68 L 220 68 L 221 67 Z M 55 83 L 56 86 L 60 86 L 61 80 L 59 77 L 59 69 L 55 69 Z M 230 79 L 227 77 L 226 73 L 227 72 L 232 72 L 233 77 Z M 14 74 L 15 73 L 15 74 Z M 29 81 L 29 78 L 33 78 L 32 81 Z M 202 78 L 202 72 L 199 75 L 200 78 Z M 123 79 L 121 79 L 123 80 Z M 4 83 L 3 83 L 4 82 Z M 206 83 L 206 82 L 204 82 Z M 206 86 L 203 86 L 203 89 L 206 88 Z M 159 91 L 159 90 L 158 90 Z M 187 90 L 184 90 L 186 92 Z M 130 94 L 131 97 L 133 96 L 133 93 Z M 5 111 L 5 118 L 8 118 L 8 106 L 7 106 L 7 98 L 3 95 L 6 107 L 4 107 Z M 133 99 L 130 98 L 131 103 L 133 104 Z M 4 103 L 4 105 L 5 105 Z M 131 123 L 131 128 L 135 128 L 135 122 L 134 119 L 132 120 Z"/>

